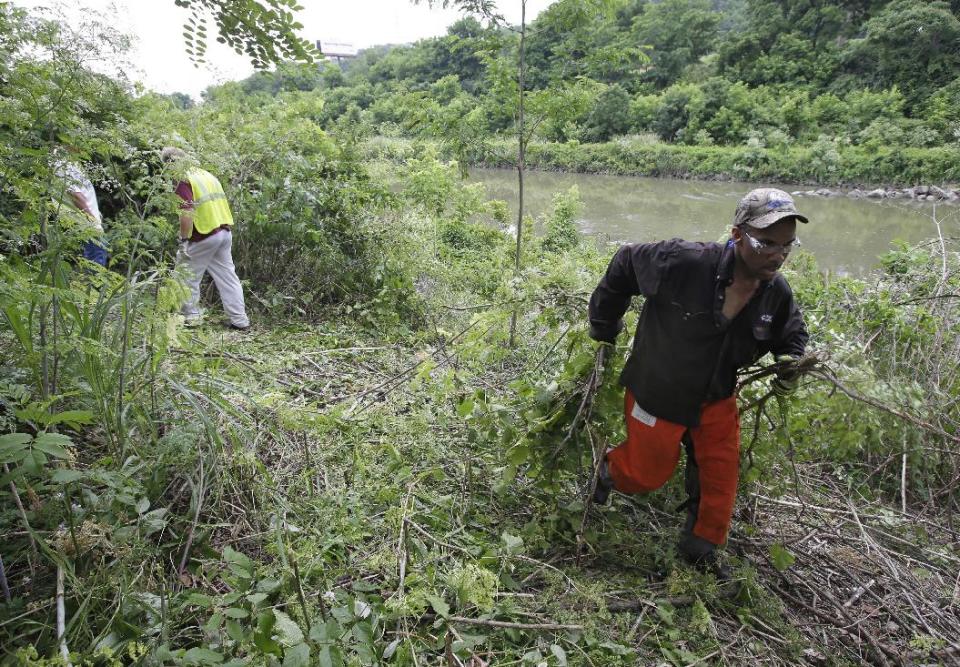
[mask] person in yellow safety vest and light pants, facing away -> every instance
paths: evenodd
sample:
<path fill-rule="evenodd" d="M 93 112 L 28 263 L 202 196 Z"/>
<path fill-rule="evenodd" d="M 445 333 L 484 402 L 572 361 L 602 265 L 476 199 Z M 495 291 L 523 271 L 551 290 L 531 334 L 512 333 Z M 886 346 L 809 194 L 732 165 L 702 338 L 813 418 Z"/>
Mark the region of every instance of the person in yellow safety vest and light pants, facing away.
<path fill-rule="evenodd" d="M 243 286 L 233 266 L 233 214 L 227 195 L 217 177 L 191 164 L 187 154 L 168 146 L 160 157 L 178 180 L 180 204 L 180 248 L 177 265 L 187 268 L 190 298 L 183 305 L 188 324 L 200 319 L 200 281 L 209 273 L 220 293 L 230 328 L 245 331 L 250 319 L 243 302 Z"/>

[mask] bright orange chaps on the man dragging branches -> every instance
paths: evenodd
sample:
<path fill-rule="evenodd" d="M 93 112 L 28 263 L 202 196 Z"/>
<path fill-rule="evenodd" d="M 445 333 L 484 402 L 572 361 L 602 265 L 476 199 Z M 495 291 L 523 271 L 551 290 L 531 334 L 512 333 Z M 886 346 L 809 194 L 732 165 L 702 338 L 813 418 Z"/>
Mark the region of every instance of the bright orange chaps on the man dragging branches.
<path fill-rule="evenodd" d="M 648 493 L 663 486 L 680 460 L 686 426 L 647 414 L 633 395 L 624 396 L 627 439 L 607 454 L 614 487 L 621 493 Z M 737 495 L 740 471 L 740 415 L 734 396 L 704 403 L 700 425 L 689 429 L 700 468 L 700 507 L 694 535 L 723 544 Z"/>

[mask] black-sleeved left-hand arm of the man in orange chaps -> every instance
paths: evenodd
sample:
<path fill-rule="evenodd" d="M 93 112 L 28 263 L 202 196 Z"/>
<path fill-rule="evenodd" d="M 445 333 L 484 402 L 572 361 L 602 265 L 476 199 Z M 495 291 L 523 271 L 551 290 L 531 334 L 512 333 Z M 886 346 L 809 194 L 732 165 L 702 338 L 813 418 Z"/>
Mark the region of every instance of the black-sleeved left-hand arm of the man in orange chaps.
<path fill-rule="evenodd" d="M 590 297 L 590 337 L 613 343 L 623 329 L 630 299 L 656 295 L 670 256 L 667 244 L 641 243 L 621 247 Z"/>

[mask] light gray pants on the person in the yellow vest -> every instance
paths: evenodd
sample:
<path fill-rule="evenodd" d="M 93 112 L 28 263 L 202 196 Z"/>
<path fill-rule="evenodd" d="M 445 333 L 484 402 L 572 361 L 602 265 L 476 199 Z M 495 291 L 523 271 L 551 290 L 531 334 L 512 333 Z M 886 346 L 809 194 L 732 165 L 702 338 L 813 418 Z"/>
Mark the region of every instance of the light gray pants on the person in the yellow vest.
<path fill-rule="evenodd" d="M 233 266 L 233 256 L 230 249 L 233 246 L 233 235 L 229 229 L 208 236 L 202 241 L 191 241 L 187 244 L 186 252 L 177 253 L 177 265 L 185 266 L 188 270 L 187 287 L 190 288 L 190 299 L 183 304 L 183 316 L 194 319 L 200 316 L 200 281 L 205 272 L 210 273 L 213 282 L 217 285 L 223 309 L 230 317 L 230 323 L 237 327 L 250 326 L 247 310 L 243 305 L 243 287 Z"/>

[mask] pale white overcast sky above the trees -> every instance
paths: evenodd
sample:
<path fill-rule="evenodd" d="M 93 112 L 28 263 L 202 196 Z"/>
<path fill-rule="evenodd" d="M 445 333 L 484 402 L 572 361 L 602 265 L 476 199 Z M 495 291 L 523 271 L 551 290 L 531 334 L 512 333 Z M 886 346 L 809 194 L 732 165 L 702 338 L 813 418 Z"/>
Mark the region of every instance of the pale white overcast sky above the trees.
<path fill-rule="evenodd" d="M 532 20 L 554 0 L 528 0 L 527 20 Z M 214 83 L 248 76 L 253 68 L 242 56 L 210 40 L 209 64 L 194 67 L 184 53 L 182 26 L 189 12 L 174 0 L 14 0 L 28 9 L 54 7 L 68 18 L 99 13 L 106 22 L 133 37 L 129 76 L 161 93 L 185 92 L 196 99 Z M 402 44 L 442 35 L 460 18 L 450 10 L 429 9 L 409 0 L 300 0 L 297 15 L 304 25 L 301 36 L 352 44 Z M 520 22 L 520 0 L 499 0 L 507 20 Z M 214 35 L 215 36 L 215 35 Z"/>

